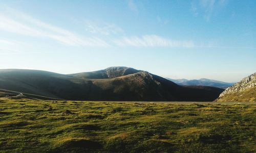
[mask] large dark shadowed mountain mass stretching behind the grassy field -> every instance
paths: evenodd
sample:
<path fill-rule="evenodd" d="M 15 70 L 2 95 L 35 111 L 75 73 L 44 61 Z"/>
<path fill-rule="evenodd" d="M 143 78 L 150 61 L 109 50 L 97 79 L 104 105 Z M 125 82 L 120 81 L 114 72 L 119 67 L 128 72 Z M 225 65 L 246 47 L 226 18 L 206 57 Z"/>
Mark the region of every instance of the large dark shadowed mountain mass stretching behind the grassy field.
<path fill-rule="evenodd" d="M 158 75 L 128 67 L 58 74 L 2 69 L 0 89 L 68 100 L 212 101 L 223 89 L 180 86 Z"/>

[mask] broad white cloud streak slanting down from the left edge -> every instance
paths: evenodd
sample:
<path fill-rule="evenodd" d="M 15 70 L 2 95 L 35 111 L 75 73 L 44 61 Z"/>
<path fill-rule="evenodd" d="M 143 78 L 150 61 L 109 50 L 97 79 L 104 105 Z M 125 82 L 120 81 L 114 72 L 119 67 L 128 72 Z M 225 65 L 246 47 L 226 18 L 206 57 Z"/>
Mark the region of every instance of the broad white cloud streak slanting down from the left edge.
<path fill-rule="evenodd" d="M 108 46 L 108 43 L 100 38 L 79 36 L 25 13 L 10 8 L 7 10 L 9 15 L 0 14 L 0 31 L 32 37 L 47 37 L 73 46 Z"/>

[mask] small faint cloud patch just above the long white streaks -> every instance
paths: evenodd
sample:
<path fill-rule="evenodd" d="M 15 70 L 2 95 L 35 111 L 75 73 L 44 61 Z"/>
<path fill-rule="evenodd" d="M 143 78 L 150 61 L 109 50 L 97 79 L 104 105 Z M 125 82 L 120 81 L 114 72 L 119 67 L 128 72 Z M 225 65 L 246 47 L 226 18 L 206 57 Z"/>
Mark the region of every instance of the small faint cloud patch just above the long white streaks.
<path fill-rule="evenodd" d="M 113 23 L 95 23 L 86 21 L 86 30 L 93 34 L 111 35 L 123 33 L 123 30 Z"/>

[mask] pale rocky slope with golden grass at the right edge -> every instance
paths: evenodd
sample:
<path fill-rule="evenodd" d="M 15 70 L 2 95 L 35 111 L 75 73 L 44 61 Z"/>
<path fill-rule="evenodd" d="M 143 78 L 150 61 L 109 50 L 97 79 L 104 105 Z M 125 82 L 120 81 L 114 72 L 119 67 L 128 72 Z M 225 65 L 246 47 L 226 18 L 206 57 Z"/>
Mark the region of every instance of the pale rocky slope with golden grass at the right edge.
<path fill-rule="evenodd" d="M 223 91 L 216 101 L 256 101 L 256 73 Z"/>

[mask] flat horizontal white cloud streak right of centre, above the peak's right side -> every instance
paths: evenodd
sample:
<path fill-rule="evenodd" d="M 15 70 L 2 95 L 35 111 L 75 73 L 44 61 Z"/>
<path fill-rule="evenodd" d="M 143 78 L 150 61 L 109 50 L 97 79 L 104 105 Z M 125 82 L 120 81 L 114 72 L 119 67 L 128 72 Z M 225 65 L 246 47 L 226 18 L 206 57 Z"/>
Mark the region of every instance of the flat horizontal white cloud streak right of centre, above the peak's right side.
<path fill-rule="evenodd" d="M 157 35 L 144 35 L 142 37 L 123 37 L 115 39 L 113 42 L 119 46 L 136 46 L 136 47 L 194 47 L 193 41 L 177 41 L 163 38 Z"/>

